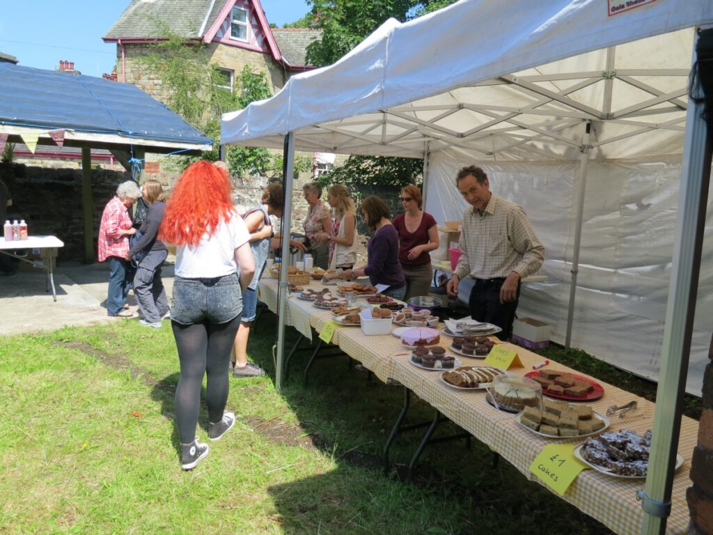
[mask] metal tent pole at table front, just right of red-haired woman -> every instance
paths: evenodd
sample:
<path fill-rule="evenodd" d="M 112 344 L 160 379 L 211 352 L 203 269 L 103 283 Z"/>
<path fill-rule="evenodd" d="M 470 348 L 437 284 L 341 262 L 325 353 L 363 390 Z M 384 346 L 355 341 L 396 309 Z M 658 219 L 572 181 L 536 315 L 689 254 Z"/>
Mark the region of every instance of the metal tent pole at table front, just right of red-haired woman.
<path fill-rule="evenodd" d="M 282 208 L 282 262 L 279 268 L 279 296 L 277 304 L 277 357 L 275 358 L 275 388 L 277 392 L 282 392 L 282 377 L 284 366 L 284 318 L 287 316 L 287 265 L 289 264 L 289 230 L 292 221 L 292 181 L 294 175 L 294 133 L 289 132 L 285 136 L 284 149 L 284 177 L 283 177 L 283 197 L 284 208 Z"/>

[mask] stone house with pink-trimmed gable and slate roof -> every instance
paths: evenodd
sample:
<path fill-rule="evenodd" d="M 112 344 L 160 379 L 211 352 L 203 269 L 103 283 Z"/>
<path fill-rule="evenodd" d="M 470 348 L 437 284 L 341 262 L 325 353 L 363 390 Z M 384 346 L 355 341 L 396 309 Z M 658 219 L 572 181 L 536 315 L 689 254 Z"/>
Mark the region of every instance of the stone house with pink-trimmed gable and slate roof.
<path fill-rule="evenodd" d="M 236 76 L 245 66 L 264 72 L 273 94 L 290 76 L 307 71 L 307 46 L 319 39 L 314 29 L 271 28 L 260 0 L 131 0 L 123 14 L 103 36 L 116 43 L 116 80 L 132 83 L 154 98 L 165 102 L 167 96 L 160 76 L 147 71 L 140 56 L 155 52 L 152 45 L 167 34 L 185 37 L 187 42 L 202 43 L 210 63 L 225 74 L 225 86 L 234 87 Z M 309 158 L 313 154 L 305 155 Z M 147 155 L 145 176 L 171 181 L 161 168 L 162 161 Z M 296 184 L 298 192 L 309 175 Z M 264 180 L 235 178 L 237 203 L 260 198 Z M 303 208 L 303 207 L 300 207 Z M 296 215 L 302 210 L 297 210 Z M 295 222 L 293 221 L 293 225 Z"/>

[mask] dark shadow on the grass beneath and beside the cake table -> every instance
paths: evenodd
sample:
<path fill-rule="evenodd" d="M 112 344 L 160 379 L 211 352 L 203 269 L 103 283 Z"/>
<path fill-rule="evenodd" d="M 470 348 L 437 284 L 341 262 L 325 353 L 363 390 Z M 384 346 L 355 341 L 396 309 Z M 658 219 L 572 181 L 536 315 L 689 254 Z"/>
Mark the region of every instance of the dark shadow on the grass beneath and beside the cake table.
<path fill-rule="evenodd" d="M 274 333 L 275 316 L 265 314 L 248 345 L 248 355 L 273 381 Z M 296 340 L 289 328 L 286 351 Z M 399 434 L 391 448 L 391 470 L 384 475 L 382 453 L 403 404 L 403 387 L 387 386 L 349 367 L 349 357 L 341 355 L 316 360 L 305 388 L 302 371 L 310 356 L 300 352 L 292 358 L 282 390 L 298 424 L 279 417 L 245 420 L 272 442 L 302 437 L 302 444 L 287 443 L 317 448 L 337 464 L 324 474 L 270 486 L 284 533 L 552 534 L 553 518 L 558 533 L 611 533 L 507 462 L 494 467 L 488 447 L 475 439 L 470 450 L 462 439 L 429 445 L 416 464 L 414 481 L 406 482 L 406 467 L 425 429 Z M 249 387 L 251 380 L 234 380 L 231 388 Z M 404 424 L 430 422 L 433 416 L 434 409 L 412 395 Z M 434 438 L 459 431 L 446 422 Z"/>

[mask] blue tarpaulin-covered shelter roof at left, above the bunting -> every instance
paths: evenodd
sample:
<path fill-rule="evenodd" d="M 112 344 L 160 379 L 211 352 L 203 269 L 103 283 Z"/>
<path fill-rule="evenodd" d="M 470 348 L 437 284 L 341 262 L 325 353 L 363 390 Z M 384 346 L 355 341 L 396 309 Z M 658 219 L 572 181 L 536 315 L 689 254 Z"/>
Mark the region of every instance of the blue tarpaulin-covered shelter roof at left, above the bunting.
<path fill-rule="evenodd" d="M 210 150 L 212 139 L 139 88 L 81 74 L 0 63 L 0 133 L 19 141 L 66 131 L 67 146 L 170 153 Z"/>

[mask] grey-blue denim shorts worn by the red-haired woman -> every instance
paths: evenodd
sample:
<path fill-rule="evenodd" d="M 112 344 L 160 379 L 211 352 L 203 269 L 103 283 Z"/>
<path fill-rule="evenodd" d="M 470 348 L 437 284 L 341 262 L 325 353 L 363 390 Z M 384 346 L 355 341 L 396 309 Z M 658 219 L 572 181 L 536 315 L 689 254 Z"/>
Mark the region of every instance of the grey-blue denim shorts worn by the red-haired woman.
<path fill-rule="evenodd" d="M 237 274 L 205 279 L 175 277 L 171 320 L 176 323 L 226 323 L 240 312 L 242 297 Z"/>

